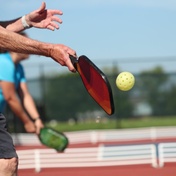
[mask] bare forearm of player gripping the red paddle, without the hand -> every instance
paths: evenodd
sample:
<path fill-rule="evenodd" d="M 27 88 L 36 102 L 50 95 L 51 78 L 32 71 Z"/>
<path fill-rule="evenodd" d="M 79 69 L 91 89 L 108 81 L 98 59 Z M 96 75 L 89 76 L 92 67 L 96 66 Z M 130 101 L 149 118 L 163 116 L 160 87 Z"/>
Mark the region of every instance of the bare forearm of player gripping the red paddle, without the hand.
<path fill-rule="evenodd" d="M 0 48 L 3 50 L 49 56 L 51 47 L 52 44 L 26 38 L 0 26 Z"/>

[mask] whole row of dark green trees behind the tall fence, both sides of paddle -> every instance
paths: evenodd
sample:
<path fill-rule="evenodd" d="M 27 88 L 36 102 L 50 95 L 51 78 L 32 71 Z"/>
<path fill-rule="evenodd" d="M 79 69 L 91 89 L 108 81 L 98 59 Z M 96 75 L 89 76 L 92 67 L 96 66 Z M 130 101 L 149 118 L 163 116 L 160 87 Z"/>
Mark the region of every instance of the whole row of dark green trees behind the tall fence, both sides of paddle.
<path fill-rule="evenodd" d="M 108 74 L 112 87 L 115 113 L 112 118 L 134 117 L 136 99 L 145 101 L 152 110 L 153 116 L 176 114 L 176 77 L 168 75 L 162 67 L 155 67 L 135 75 L 136 82 L 132 90 L 123 92 L 115 85 L 116 73 Z M 174 79 L 175 77 L 175 79 Z M 78 74 L 56 75 L 45 79 L 45 108 L 49 119 L 66 121 L 70 118 L 77 120 L 79 114 L 99 111 L 101 108 L 89 96 Z"/>

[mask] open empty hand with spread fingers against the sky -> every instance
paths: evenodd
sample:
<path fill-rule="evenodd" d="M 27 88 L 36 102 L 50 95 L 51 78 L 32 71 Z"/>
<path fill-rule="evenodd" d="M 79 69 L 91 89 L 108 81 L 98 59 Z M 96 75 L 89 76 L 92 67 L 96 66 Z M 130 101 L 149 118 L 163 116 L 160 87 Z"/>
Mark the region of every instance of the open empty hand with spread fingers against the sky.
<path fill-rule="evenodd" d="M 56 15 L 62 15 L 60 10 L 47 10 L 45 2 L 42 2 L 41 7 L 26 15 L 26 22 L 36 28 L 46 28 L 54 31 L 59 29 L 59 25 L 56 23 L 62 23 L 62 20 Z"/>

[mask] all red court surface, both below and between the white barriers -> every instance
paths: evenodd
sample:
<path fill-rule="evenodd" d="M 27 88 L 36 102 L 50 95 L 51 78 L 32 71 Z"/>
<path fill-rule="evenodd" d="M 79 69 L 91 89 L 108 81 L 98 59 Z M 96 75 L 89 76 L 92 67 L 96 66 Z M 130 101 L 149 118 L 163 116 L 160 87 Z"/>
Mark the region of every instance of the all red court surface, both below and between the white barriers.
<path fill-rule="evenodd" d="M 175 142 L 176 138 L 158 139 L 158 142 Z M 145 144 L 153 142 L 151 140 L 133 141 L 133 144 Z M 118 142 L 116 142 L 118 143 Z M 129 141 L 119 142 L 118 144 L 128 144 Z M 131 142 L 130 142 L 131 143 Z M 111 143 L 109 143 L 111 144 Z M 97 143 L 95 146 L 98 146 Z M 90 144 L 75 144 L 72 148 L 92 147 Z M 94 146 L 94 147 L 95 147 Z M 31 147 L 32 149 L 33 147 Z M 34 147 L 35 148 L 35 147 Z M 24 146 L 17 149 L 27 149 Z M 28 148 L 29 149 L 29 148 Z M 125 165 L 125 166 L 106 166 L 106 167 L 73 167 L 73 168 L 49 168 L 42 169 L 36 173 L 34 169 L 19 170 L 19 176 L 176 176 L 176 163 L 165 163 L 164 167 L 154 168 L 151 164 Z"/>

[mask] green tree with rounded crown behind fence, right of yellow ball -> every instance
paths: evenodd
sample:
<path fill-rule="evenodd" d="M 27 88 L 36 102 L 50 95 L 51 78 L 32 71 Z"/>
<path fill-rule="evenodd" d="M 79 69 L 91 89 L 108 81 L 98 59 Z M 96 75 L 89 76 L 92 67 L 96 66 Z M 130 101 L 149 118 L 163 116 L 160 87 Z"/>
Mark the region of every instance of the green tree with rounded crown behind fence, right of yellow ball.
<path fill-rule="evenodd" d="M 141 96 L 152 107 L 153 115 L 163 115 L 165 109 L 165 85 L 168 76 L 164 74 L 162 67 L 158 66 L 149 71 L 143 71 L 139 75 L 138 90 Z"/>

